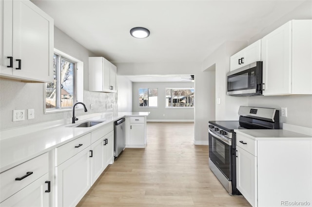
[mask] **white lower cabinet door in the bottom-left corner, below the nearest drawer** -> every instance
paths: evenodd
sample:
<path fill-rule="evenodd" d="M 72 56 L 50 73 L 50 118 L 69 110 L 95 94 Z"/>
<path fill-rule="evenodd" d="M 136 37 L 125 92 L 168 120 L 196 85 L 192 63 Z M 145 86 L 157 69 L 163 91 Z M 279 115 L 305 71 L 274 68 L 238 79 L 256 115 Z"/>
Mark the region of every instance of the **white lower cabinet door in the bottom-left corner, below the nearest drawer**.
<path fill-rule="evenodd" d="M 46 182 L 49 182 L 49 173 L 3 201 L 0 207 L 48 207 L 51 195 L 50 184 Z"/>

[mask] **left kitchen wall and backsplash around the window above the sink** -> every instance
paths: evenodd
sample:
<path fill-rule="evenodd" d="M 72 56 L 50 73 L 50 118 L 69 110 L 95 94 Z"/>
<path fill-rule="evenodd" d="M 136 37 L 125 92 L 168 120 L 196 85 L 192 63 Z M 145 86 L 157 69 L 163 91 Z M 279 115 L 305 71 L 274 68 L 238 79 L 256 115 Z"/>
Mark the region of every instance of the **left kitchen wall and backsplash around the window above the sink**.
<path fill-rule="evenodd" d="M 88 57 L 94 53 L 88 51 L 71 37 L 54 28 L 55 48 L 65 52 L 78 60 L 81 60 L 84 70 L 84 103 L 88 112 L 78 110 L 76 116 L 88 113 L 109 111 L 117 112 L 117 94 L 91 92 L 89 89 Z M 79 84 L 79 83 L 78 83 Z M 22 83 L 8 79 L 0 79 L 0 130 L 20 127 L 29 124 L 41 123 L 43 121 L 54 121 L 72 117 L 72 112 L 60 112 L 44 114 L 44 84 Z M 94 109 L 90 109 L 94 104 Z M 25 121 L 12 121 L 14 109 L 35 109 L 35 119 Z M 27 116 L 26 116 L 27 117 Z"/>

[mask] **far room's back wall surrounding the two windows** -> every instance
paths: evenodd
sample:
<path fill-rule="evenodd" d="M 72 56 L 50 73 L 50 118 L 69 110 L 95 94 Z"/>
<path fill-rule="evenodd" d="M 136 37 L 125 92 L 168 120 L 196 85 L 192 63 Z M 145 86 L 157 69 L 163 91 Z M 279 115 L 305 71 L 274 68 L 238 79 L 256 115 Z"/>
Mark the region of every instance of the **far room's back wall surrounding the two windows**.
<path fill-rule="evenodd" d="M 192 82 L 149 82 L 149 83 L 133 83 L 133 111 L 149 111 L 150 115 L 147 121 L 194 121 L 194 108 L 165 108 L 165 89 L 166 88 L 194 88 Z M 139 88 L 157 88 L 157 107 L 139 107 L 138 89 Z M 196 91 L 195 91 L 196 96 Z M 196 99 L 196 98 L 195 98 Z M 196 103 L 195 103 L 196 104 Z M 165 115 L 165 116 L 163 116 Z"/>

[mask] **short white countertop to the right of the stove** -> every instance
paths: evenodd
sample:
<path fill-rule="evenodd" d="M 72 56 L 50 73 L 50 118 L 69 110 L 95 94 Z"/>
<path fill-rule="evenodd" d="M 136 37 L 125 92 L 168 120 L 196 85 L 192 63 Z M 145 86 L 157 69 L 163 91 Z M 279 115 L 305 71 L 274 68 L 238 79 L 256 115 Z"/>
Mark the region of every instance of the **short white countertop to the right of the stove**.
<path fill-rule="evenodd" d="M 312 140 L 311 136 L 284 129 L 235 129 L 234 132 L 254 140 Z"/>

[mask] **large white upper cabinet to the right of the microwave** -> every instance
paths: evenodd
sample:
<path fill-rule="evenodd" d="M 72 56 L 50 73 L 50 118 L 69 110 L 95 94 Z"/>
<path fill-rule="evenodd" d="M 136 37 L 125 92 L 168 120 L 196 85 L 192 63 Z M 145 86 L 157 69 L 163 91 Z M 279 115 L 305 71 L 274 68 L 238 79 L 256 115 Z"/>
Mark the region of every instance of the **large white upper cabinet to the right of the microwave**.
<path fill-rule="evenodd" d="M 312 20 L 292 20 L 262 38 L 263 95 L 312 94 Z"/>

